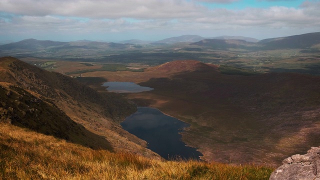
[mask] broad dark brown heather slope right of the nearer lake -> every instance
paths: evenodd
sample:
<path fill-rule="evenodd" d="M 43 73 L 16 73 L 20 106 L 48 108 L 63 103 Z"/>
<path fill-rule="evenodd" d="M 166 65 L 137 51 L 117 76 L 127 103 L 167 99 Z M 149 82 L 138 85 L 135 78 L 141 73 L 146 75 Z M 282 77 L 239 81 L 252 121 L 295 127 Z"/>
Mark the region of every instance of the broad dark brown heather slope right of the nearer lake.
<path fill-rule="evenodd" d="M 206 160 L 277 164 L 320 143 L 318 76 L 191 71 L 140 85 L 154 90 L 130 96 L 191 123 L 182 139 Z"/>

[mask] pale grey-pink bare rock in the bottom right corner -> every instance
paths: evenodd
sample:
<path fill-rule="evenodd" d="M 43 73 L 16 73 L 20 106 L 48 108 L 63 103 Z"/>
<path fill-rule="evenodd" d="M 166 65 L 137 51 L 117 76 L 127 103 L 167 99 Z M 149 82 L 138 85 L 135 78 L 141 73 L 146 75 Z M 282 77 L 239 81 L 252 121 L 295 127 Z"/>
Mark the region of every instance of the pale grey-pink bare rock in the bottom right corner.
<path fill-rule="evenodd" d="M 282 161 L 269 180 L 320 180 L 320 147 L 311 147 L 306 154 L 295 154 Z"/>

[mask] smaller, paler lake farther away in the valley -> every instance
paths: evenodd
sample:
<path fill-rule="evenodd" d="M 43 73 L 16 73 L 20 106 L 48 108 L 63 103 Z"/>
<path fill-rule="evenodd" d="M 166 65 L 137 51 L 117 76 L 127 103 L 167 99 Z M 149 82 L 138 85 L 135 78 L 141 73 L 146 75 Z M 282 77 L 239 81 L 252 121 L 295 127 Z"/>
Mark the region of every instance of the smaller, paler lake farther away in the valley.
<path fill-rule="evenodd" d="M 107 86 L 110 92 L 124 93 L 124 92 L 143 92 L 153 90 L 151 87 L 140 86 L 134 82 L 104 82 L 102 86 Z"/>

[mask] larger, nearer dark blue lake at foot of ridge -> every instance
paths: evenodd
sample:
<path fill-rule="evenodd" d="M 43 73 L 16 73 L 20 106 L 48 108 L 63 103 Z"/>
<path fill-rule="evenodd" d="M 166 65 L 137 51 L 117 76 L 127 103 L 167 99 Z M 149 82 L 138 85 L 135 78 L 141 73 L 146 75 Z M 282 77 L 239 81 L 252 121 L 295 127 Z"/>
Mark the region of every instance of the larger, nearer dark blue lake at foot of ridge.
<path fill-rule="evenodd" d="M 202 154 L 181 141 L 179 132 L 189 124 L 150 107 L 137 111 L 121 122 L 123 129 L 148 142 L 147 148 L 165 159 L 175 157 L 199 159 Z"/>

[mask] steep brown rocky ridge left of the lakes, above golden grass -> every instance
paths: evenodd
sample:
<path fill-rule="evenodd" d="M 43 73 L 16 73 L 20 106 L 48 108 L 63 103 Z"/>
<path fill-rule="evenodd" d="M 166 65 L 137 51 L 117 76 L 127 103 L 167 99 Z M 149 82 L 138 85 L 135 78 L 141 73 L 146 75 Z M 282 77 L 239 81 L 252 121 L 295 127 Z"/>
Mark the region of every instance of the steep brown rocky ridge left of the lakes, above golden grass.
<path fill-rule="evenodd" d="M 147 151 L 145 141 L 118 124 L 135 111 L 119 95 L 98 93 L 14 57 L 0 58 L 0 85 L 1 121 L 91 148 Z"/>

